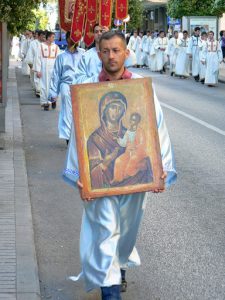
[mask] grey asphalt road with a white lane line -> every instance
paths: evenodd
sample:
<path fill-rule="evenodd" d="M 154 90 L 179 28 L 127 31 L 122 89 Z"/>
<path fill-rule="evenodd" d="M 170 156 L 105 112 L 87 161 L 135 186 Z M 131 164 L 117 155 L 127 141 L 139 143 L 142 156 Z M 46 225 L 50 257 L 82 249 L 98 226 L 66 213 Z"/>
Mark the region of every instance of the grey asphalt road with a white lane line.
<path fill-rule="evenodd" d="M 149 196 L 137 241 L 142 266 L 128 272 L 123 300 L 225 299 L 225 84 L 135 71 L 153 77 L 178 181 Z M 60 177 L 66 145 L 58 111 L 42 111 L 28 78 L 17 75 L 43 299 L 100 299 L 66 279 L 80 272 L 82 202 Z"/>

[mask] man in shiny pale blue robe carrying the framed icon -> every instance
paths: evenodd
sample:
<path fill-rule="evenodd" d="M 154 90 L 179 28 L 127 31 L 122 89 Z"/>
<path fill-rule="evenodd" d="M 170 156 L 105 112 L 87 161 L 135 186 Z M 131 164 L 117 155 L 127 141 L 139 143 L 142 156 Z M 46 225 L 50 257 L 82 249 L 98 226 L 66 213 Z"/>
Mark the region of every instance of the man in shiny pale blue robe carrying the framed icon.
<path fill-rule="evenodd" d="M 114 49 L 119 51 L 116 52 Z M 124 62 L 128 55 L 129 50 L 126 48 L 125 39 L 121 34 L 113 31 L 104 33 L 100 40 L 99 52 L 103 69 L 100 74 L 96 74 L 83 83 L 140 78 L 140 76 L 124 68 Z M 113 64 L 110 63 L 112 58 Z M 164 169 L 162 179 L 169 186 L 176 180 L 174 156 L 163 113 L 156 95 L 154 95 L 154 100 Z M 105 111 L 102 110 L 102 113 L 104 114 Z M 102 115 L 100 115 L 100 118 L 104 119 Z M 107 134 L 106 128 L 104 132 Z M 108 133 L 108 136 L 110 136 L 110 133 Z M 106 141 L 103 140 L 102 142 L 105 143 Z M 107 160 L 112 159 L 110 158 L 110 152 L 104 151 L 104 153 L 107 153 Z M 105 158 L 103 155 L 103 167 L 104 164 Z M 72 126 L 63 177 L 67 183 L 82 189 L 83 185 L 79 179 L 79 167 L 82 166 L 79 166 L 75 132 Z M 104 173 L 103 169 L 102 172 Z M 167 177 L 165 173 L 167 173 Z M 106 179 L 106 177 L 104 178 Z M 159 191 L 156 190 L 155 192 Z M 76 281 L 83 278 L 87 291 L 101 288 L 102 300 L 121 299 L 120 285 L 123 280 L 121 269 L 140 264 L 140 259 L 137 260 L 139 256 L 135 248 L 135 242 L 144 212 L 146 195 L 147 193 L 136 193 L 107 196 L 95 200 L 86 199 L 87 201 L 84 202 L 80 235 L 82 273 L 78 277 L 72 276 L 70 279 Z M 132 253 L 136 256 L 135 261 L 132 260 Z"/>

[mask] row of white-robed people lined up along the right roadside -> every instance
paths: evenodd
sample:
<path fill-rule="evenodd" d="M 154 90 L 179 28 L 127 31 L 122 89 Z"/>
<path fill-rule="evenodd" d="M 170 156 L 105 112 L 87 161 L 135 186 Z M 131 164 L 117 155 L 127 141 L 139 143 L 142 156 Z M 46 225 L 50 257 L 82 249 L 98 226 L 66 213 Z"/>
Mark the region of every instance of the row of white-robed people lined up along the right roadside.
<path fill-rule="evenodd" d="M 184 30 L 174 31 L 173 36 L 167 36 L 165 31 L 143 31 L 133 35 L 128 34 L 128 48 L 135 52 L 136 67 L 147 67 L 153 72 L 166 72 L 171 76 L 187 78 L 191 74 L 196 81 L 210 87 L 218 83 L 220 64 L 225 63 L 225 31 L 220 32 L 217 40 L 213 31 L 200 32 L 194 29 L 194 34 Z"/>

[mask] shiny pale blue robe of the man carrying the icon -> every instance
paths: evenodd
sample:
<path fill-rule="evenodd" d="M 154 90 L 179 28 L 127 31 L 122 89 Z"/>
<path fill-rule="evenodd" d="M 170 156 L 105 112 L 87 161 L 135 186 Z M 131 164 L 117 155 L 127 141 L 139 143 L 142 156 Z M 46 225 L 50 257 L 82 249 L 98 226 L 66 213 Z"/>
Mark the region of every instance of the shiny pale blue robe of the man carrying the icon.
<path fill-rule="evenodd" d="M 132 74 L 132 78 L 140 78 Z M 98 75 L 92 77 L 98 82 Z M 91 82 L 91 80 L 87 80 Z M 87 82 L 86 81 L 86 82 Z M 167 172 L 166 185 L 176 180 L 175 162 L 160 104 L 154 95 L 163 169 Z M 74 126 L 67 150 L 63 177 L 76 186 L 79 162 Z M 121 268 L 140 265 L 135 248 L 147 193 L 108 196 L 84 202 L 80 235 L 82 272 L 71 280 L 83 278 L 86 290 L 121 283 Z"/>

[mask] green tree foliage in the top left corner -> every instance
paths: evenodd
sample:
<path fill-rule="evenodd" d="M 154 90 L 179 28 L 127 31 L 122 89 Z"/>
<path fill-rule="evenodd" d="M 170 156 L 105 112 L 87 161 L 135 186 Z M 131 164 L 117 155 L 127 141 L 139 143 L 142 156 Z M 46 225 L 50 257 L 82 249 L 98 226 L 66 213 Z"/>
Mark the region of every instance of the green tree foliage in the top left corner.
<path fill-rule="evenodd" d="M 11 34 L 18 34 L 25 29 L 32 29 L 35 13 L 41 0 L 0 0 L 0 21 L 6 22 Z"/>

